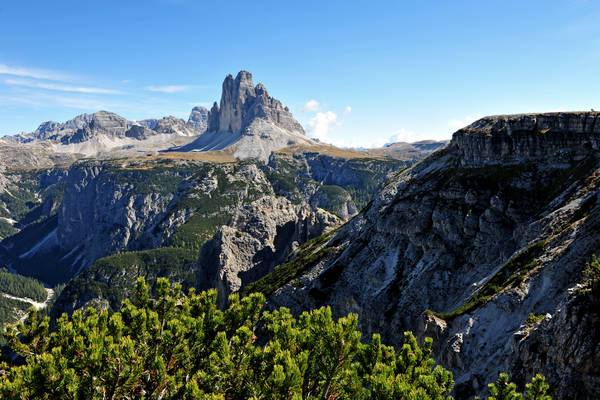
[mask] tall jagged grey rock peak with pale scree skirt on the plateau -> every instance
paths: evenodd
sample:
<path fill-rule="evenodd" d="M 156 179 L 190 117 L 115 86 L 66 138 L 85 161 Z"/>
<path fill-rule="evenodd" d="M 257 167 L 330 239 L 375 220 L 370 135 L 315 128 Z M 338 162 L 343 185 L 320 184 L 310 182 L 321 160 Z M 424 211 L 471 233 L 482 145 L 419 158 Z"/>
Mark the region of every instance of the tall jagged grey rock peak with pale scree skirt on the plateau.
<path fill-rule="evenodd" d="M 287 107 L 269 96 L 252 74 L 240 71 L 223 82 L 221 103 L 208 113 L 208 127 L 184 151 L 222 150 L 231 147 L 238 159 L 267 161 L 272 151 L 293 144 L 314 144 Z"/>

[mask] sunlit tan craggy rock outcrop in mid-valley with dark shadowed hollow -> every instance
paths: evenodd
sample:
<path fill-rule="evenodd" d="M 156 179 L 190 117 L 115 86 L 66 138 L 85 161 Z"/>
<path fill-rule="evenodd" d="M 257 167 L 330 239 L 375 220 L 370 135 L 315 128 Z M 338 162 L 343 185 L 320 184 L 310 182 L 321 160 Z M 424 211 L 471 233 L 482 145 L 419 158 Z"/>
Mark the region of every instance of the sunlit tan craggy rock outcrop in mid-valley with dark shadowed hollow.
<path fill-rule="evenodd" d="M 200 250 L 198 282 L 217 288 L 219 304 L 271 272 L 304 242 L 339 225 L 321 210 L 292 204 L 282 197 L 263 197 L 238 210 Z"/>

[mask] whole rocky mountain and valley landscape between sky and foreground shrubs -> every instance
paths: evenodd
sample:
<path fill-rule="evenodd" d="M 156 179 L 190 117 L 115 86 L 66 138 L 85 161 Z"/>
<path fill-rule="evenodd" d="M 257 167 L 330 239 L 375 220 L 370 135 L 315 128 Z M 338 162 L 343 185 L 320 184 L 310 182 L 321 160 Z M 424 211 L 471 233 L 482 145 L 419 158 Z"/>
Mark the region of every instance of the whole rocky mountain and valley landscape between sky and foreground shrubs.
<path fill-rule="evenodd" d="M 598 112 L 337 148 L 246 71 L 187 121 L 44 122 L 0 138 L 0 275 L 30 288 L 0 286 L 0 323 L 30 305 L 53 321 L 117 311 L 138 277 L 152 291 L 167 277 L 216 288 L 220 308 L 260 292 L 295 316 L 355 313 L 364 338 L 396 349 L 405 331 L 432 337 L 457 399 L 500 372 L 600 398 L 600 300 L 584 273 L 600 248 L 599 155 Z"/>

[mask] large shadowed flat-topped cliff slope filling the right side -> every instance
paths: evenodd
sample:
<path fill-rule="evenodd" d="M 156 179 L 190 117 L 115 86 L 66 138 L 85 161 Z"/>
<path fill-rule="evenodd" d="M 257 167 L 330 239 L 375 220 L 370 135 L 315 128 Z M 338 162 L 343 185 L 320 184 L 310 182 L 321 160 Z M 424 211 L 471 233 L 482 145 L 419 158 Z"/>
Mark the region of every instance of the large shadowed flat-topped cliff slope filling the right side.
<path fill-rule="evenodd" d="M 405 330 L 432 335 L 456 397 L 485 394 L 509 369 L 528 314 L 557 313 L 600 246 L 600 136 L 581 123 L 596 117 L 489 117 L 458 131 L 393 177 L 270 307 L 329 304 L 338 316 L 357 313 L 363 335 L 381 332 L 394 345 Z M 544 123 L 516 128 L 533 120 Z M 540 362 L 551 362 L 546 351 L 535 349 Z M 566 393 L 565 382 L 550 384 Z"/>

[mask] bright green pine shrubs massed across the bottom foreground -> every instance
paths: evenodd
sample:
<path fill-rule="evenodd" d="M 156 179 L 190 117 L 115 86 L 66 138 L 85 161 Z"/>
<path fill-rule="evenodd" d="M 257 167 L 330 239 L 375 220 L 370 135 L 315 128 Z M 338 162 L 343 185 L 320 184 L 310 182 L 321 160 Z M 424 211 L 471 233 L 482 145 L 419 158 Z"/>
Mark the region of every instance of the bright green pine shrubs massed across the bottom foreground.
<path fill-rule="evenodd" d="M 294 319 L 264 312 L 264 296 L 215 290 L 181 296 L 156 282 L 156 300 L 139 279 L 120 312 L 88 309 L 49 319 L 32 312 L 7 328 L 25 358 L 0 366 L 3 399 L 449 399 L 452 374 L 405 333 L 398 353 L 374 335 L 362 344 L 357 317 L 335 321 L 329 308 Z M 261 326 L 259 329 L 258 326 Z M 263 343 L 258 345 L 258 343 Z"/>

